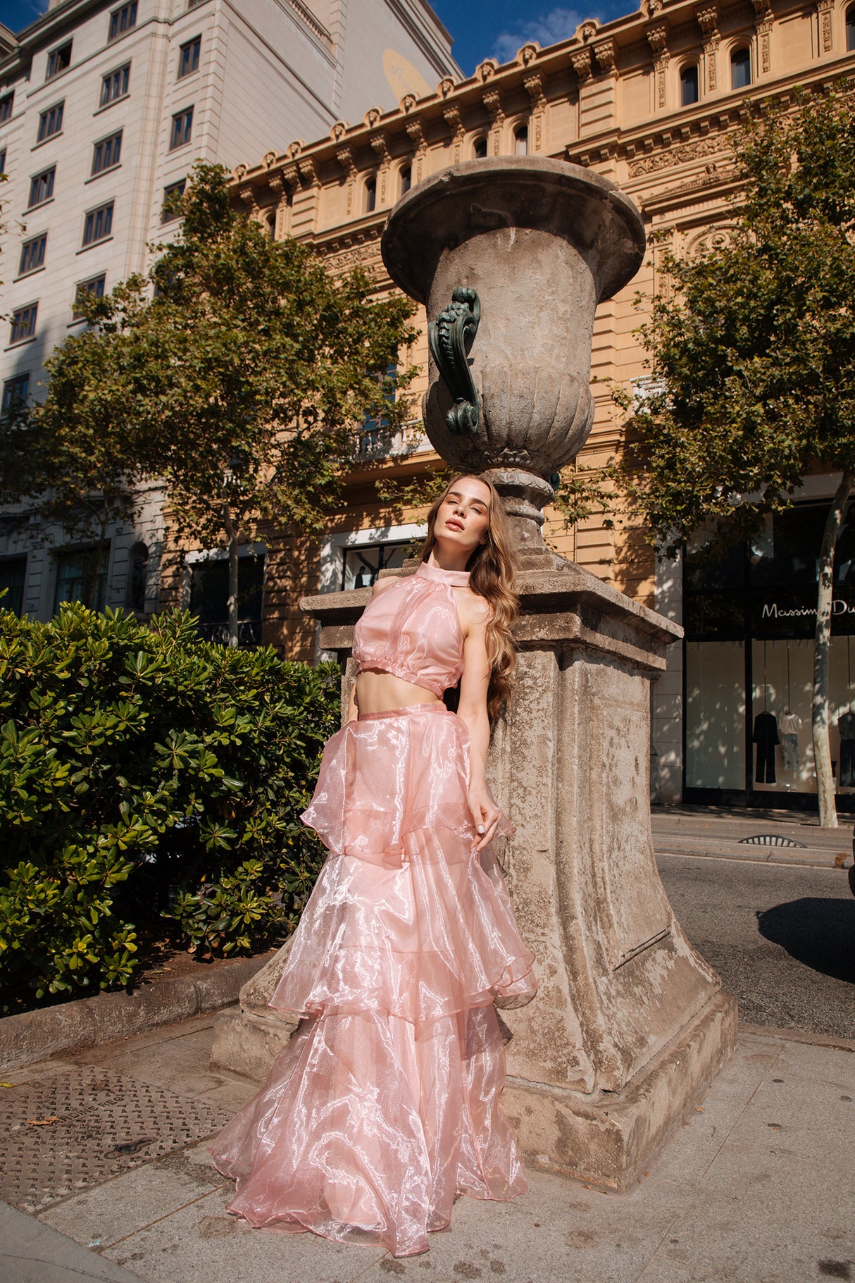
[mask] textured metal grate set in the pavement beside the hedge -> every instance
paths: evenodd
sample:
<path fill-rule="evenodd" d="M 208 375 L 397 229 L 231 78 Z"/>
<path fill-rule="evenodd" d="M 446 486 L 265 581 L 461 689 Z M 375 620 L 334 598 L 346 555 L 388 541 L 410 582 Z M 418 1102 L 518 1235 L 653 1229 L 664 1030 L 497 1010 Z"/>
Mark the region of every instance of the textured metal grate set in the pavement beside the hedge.
<path fill-rule="evenodd" d="M 82 1065 L 0 1092 L 0 1198 L 35 1212 L 219 1132 L 229 1114 Z"/>

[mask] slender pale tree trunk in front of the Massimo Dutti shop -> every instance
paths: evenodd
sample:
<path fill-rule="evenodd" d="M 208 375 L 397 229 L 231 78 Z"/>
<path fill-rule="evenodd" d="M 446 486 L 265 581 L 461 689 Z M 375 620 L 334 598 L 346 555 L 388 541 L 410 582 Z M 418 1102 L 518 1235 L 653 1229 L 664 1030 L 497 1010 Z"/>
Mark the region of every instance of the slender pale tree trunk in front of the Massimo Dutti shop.
<path fill-rule="evenodd" d="M 819 553 L 819 584 L 817 589 L 817 633 L 814 636 L 814 692 L 813 736 L 817 766 L 817 799 L 819 822 L 824 829 L 837 828 L 834 777 L 831 769 L 831 742 L 828 738 L 828 658 L 831 652 L 831 620 L 834 593 L 834 553 L 843 511 L 855 488 L 855 468 L 846 468 L 831 502 Z"/>

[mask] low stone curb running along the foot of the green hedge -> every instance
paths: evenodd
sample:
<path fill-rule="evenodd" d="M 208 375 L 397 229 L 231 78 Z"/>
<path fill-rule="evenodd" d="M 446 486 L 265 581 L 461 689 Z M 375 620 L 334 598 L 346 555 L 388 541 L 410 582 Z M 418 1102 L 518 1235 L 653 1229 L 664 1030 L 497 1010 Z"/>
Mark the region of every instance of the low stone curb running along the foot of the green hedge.
<path fill-rule="evenodd" d="M 62 1052 L 172 1025 L 219 1011 L 237 1001 L 242 987 L 273 955 L 241 958 L 197 979 L 158 980 L 132 993 L 99 993 L 56 1007 L 0 1019 L 0 1074 L 50 1060 Z"/>

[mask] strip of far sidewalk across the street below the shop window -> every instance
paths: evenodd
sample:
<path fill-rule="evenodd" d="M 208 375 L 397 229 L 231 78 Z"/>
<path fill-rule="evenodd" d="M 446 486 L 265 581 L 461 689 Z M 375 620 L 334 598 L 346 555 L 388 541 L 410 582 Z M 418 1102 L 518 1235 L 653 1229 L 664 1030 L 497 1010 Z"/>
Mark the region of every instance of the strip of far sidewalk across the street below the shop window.
<path fill-rule="evenodd" d="M 711 856 L 717 860 L 755 860 L 826 869 L 851 867 L 854 821 L 855 816 L 842 816 L 837 829 L 820 829 L 819 817 L 802 811 L 746 812 L 692 806 L 651 808 L 656 854 Z M 772 837 L 784 845 L 743 840 L 758 837 Z"/>

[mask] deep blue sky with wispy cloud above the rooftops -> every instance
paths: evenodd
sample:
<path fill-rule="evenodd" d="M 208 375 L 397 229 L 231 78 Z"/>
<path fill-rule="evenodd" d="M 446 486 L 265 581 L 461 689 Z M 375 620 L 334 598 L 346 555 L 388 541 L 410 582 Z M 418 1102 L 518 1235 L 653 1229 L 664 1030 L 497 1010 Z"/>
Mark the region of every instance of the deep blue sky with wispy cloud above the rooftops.
<path fill-rule="evenodd" d="M 13 31 L 29 26 L 47 8 L 45 0 L 4 0 L 0 22 Z M 633 0 L 594 0 L 588 6 L 520 4 L 519 0 L 433 0 L 433 8 L 454 36 L 454 55 L 470 76 L 485 58 L 508 62 L 520 45 L 537 40 L 551 45 L 572 36 L 585 18 L 609 22 L 631 13 Z"/>

